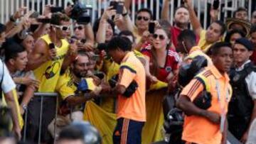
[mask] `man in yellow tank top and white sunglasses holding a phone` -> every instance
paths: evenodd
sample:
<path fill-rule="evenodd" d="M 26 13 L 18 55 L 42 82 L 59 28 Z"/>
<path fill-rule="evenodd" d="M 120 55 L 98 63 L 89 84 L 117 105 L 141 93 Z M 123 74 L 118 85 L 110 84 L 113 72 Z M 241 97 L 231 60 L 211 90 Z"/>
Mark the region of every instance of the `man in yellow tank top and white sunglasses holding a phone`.
<path fill-rule="evenodd" d="M 33 70 L 36 79 L 40 81 L 38 92 L 55 92 L 55 87 L 60 77 L 61 66 L 72 57 L 72 48 L 65 40 L 66 30 L 70 28 L 70 18 L 63 13 L 53 13 L 50 18 L 50 33 L 43 35 L 36 41 L 35 48 L 28 54 L 26 70 Z M 31 111 L 28 113 L 28 137 L 37 140 L 41 98 L 35 97 L 31 101 Z M 47 131 L 48 124 L 55 116 L 55 99 L 45 97 L 43 101 L 42 142 L 50 139 Z M 37 121 L 38 120 L 38 121 Z"/>

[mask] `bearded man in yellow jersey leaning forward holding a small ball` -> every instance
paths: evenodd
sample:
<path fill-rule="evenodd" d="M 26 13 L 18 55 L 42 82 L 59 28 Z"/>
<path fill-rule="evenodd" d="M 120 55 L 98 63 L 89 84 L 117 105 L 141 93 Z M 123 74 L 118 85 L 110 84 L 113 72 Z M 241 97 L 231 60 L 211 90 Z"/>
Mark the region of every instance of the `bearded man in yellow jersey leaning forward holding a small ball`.
<path fill-rule="evenodd" d="M 100 79 L 88 77 L 90 60 L 87 52 L 78 51 L 76 60 L 58 79 L 56 92 L 60 94 L 61 102 L 58 117 L 48 126 L 52 135 L 55 133 L 55 120 L 58 133 L 63 126 L 71 121 L 83 121 L 83 111 L 86 101 L 97 98 L 105 90 Z M 55 135 L 56 136 L 56 135 Z"/>

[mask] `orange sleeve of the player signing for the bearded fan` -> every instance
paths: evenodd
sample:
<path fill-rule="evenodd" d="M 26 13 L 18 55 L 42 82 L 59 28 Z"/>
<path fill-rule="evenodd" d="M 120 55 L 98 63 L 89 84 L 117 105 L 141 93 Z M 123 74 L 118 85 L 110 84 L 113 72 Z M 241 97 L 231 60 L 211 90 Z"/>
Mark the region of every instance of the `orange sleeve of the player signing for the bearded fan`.
<path fill-rule="evenodd" d="M 119 84 L 127 88 L 129 84 L 131 84 L 132 80 L 134 80 L 134 77 L 136 76 L 137 72 L 134 69 L 134 66 L 127 63 L 121 65 L 119 70 Z"/>

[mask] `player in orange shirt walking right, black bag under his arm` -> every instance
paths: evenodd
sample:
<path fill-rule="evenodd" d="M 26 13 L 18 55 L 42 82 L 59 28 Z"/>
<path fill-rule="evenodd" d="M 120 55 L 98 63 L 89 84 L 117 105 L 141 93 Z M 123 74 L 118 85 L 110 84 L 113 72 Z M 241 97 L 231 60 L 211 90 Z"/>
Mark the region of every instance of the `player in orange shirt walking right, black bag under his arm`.
<path fill-rule="evenodd" d="M 226 143 L 228 102 L 232 95 L 227 72 L 233 52 L 229 43 L 211 46 L 213 65 L 183 88 L 177 106 L 186 114 L 182 140 L 187 143 Z"/>

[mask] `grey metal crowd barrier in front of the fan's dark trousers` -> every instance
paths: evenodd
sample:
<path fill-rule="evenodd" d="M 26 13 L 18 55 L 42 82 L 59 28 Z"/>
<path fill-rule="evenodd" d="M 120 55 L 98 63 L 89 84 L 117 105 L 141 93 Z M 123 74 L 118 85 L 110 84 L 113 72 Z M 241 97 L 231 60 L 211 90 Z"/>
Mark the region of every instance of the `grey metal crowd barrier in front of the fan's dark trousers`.
<path fill-rule="evenodd" d="M 19 93 L 20 95 L 22 93 Z M 40 106 L 40 118 L 39 118 L 39 132 L 38 132 L 38 144 L 41 143 L 41 131 L 42 131 L 42 119 L 43 119 L 43 99 L 44 97 L 53 97 L 56 99 L 56 106 L 55 106 L 55 121 L 58 114 L 58 94 L 57 93 L 41 93 L 36 92 L 34 93 L 34 96 L 41 96 L 41 106 Z M 24 118 L 24 127 L 23 127 L 23 141 L 26 141 L 26 132 L 27 132 L 27 121 L 28 118 L 28 109 L 25 111 L 25 118 Z M 54 123 L 54 142 L 55 142 L 55 129 L 56 129 L 56 123 Z"/>

